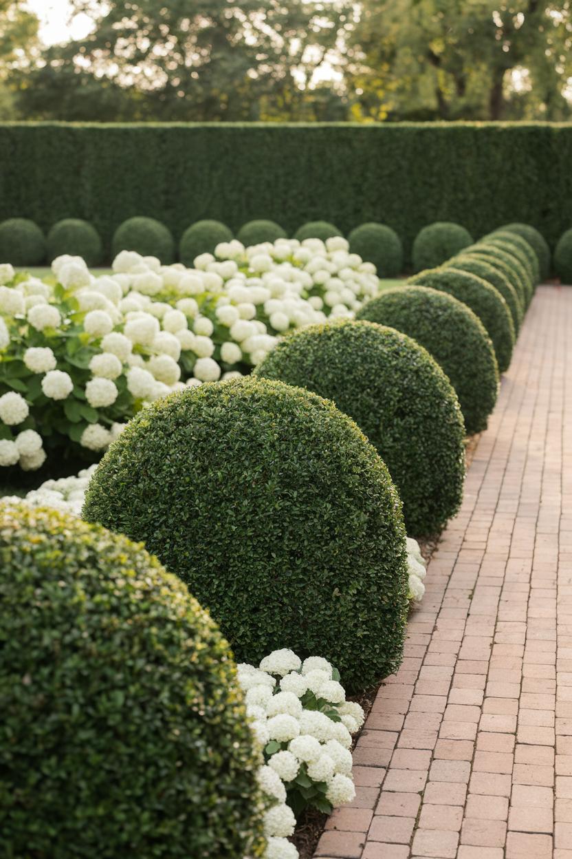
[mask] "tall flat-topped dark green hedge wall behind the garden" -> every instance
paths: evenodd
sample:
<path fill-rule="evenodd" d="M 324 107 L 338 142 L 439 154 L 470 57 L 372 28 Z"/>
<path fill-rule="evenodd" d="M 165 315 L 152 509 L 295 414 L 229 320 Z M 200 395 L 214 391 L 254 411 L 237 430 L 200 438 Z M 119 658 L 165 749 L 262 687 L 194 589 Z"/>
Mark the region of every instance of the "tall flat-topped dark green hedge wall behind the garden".
<path fill-rule="evenodd" d="M 0 125 L 0 221 L 47 230 L 93 222 L 109 248 L 146 215 L 175 239 L 214 218 L 235 232 L 255 218 L 290 235 L 331 220 L 347 235 L 379 221 L 406 254 L 419 228 L 461 223 L 476 238 L 533 224 L 553 246 L 572 224 L 572 126 L 563 124 Z"/>

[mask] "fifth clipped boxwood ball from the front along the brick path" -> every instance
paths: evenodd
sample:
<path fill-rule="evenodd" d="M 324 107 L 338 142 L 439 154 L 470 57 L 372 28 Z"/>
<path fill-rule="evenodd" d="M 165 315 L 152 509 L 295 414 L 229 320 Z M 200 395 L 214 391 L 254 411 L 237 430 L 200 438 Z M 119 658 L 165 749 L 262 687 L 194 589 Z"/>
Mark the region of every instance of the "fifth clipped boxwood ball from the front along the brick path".
<path fill-rule="evenodd" d="M 492 340 L 499 371 L 504 373 L 509 369 L 515 347 L 515 326 L 507 302 L 491 283 L 469 271 L 445 266 L 421 271 L 408 283 L 420 283 L 422 286 L 441 289 L 467 304 L 477 314 Z"/>

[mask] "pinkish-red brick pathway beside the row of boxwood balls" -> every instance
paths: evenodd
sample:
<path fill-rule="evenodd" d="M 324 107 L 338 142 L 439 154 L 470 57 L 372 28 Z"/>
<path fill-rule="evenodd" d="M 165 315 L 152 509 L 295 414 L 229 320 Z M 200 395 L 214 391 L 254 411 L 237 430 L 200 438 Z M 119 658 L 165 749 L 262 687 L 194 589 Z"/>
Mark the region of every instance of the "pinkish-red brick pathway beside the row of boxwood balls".
<path fill-rule="evenodd" d="M 540 287 L 316 856 L 572 859 L 572 288 Z"/>

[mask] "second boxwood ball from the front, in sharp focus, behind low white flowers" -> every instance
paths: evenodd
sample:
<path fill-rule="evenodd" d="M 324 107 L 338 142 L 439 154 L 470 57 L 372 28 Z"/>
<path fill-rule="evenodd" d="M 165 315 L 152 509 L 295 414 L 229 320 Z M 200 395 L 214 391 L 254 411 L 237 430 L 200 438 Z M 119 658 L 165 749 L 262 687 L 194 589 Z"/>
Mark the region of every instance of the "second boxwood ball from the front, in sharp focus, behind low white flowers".
<path fill-rule="evenodd" d="M 400 664 L 400 500 L 356 424 L 314 393 L 248 377 L 160 400 L 109 448 L 83 514 L 145 540 L 238 661 L 319 653 L 352 691 Z"/>

